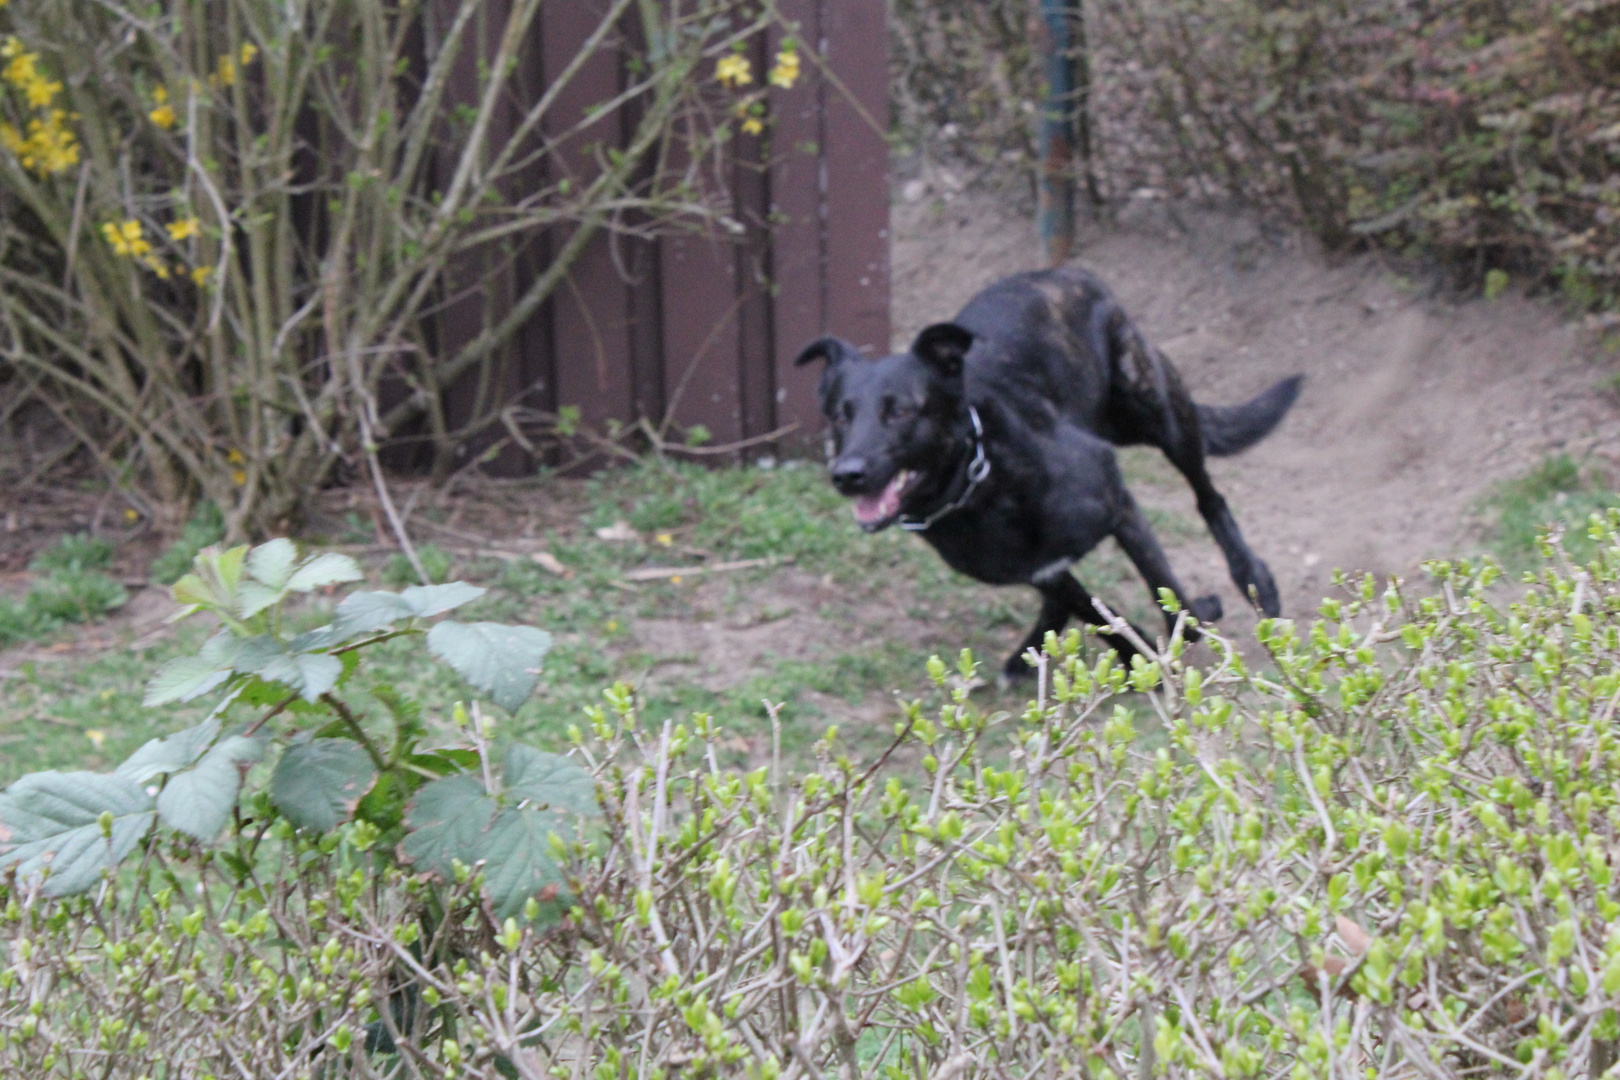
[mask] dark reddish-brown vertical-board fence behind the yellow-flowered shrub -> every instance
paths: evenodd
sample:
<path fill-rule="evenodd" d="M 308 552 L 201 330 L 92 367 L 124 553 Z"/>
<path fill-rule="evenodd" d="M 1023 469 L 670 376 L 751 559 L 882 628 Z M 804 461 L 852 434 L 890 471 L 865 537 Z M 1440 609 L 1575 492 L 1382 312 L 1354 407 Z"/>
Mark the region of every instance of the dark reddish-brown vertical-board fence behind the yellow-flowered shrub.
<path fill-rule="evenodd" d="M 533 70 L 544 79 L 572 58 L 601 18 L 601 0 L 541 6 Z M 885 0 L 779 0 L 797 24 L 804 76 L 770 96 L 766 138 L 739 134 L 731 167 L 737 236 L 599 236 L 569 283 L 531 319 L 501 364 L 509 402 L 583 423 L 701 424 L 710 445 L 758 439 L 748 457 L 792 452 L 820 429 L 818 371 L 794 356 L 823 334 L 886 351 L 889 337 L 888 73 Z M 779 37 L 781 34 L 773 34 Z M 778 40 L 753 44 L 765 73 Z M 810 53 L 815 53 L 812 57 Z M 625 55 L 598 53 L 567 89 L 559 115 L 582 115 L 624 86 Z M 818 60 L 818 62 L 816 62 Z M 823 73 L 823 68 L 828 74 Z M 629 125 L 622 125 L 629 131 Z M 585 154 L 586 149 L 564 152 Z M 561 243 L 539 236 L 514 275 L 536 274 Z M 514 293 L 523 285 L 514 280 Z M 478 332 L 488 298 L 442 311 L 450 345 Z M 454 387 L 471 400 L 488 387 Z M 533 468 L 505 452 L 492 468 Z"/>

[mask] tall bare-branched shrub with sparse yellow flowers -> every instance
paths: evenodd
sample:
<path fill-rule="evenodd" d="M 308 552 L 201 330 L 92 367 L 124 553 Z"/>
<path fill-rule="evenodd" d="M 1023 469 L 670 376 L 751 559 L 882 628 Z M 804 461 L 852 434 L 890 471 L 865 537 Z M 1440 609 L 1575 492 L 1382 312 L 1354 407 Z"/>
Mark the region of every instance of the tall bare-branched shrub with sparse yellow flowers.
<path fill-rule="evenodd" d="M 770 3 L 604 0 L 536 86 L 543 6 L 0 3 L 5 393 L 167 533 L 284 531 L 390 439 L 471 460 L 580 253 L 735 232 L 727 139 L 770 117 Z M 797 78 L 787 39 L 761 79 Z"/>

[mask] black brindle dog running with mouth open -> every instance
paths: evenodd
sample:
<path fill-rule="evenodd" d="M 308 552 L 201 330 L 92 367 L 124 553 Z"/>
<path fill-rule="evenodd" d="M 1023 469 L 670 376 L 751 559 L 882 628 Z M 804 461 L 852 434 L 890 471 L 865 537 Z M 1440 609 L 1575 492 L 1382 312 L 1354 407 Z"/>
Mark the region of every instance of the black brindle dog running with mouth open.
<path fill-rule="evenodd" d="M 855 500 L 860 528 L 897 521 L 972 578 L 1040 591 L 1040 619 L 1006 675 L 1027 674 L 1024 651 L 1071 617 L 1105 625 L 1069 573 L 1105 536 L 1119 541 L 1155 596 L 1171 589 L 1202 622 L 1221 615 L 1218 596 L 1184 594 L 1126 491 L 1115 445 L 1165 452 L 1192 484 L 1231 580 L 1262 612 L 1278 614 L 1277 583 L 1243 541 L 1204 457 L 1238 453 L 1270 434 L 1301 376 L 1247 405 L 1197 405 L 1103 283 L 1072 267 L 996 282 L 956 322 L 919 334 L 907 353 L 867 359 L 829 337 L 795 363 L 815 359 L 826 361 L 833 484 Z M 1121 635 L 1102 636 L 1121 656 L 1136 653 Z"/>

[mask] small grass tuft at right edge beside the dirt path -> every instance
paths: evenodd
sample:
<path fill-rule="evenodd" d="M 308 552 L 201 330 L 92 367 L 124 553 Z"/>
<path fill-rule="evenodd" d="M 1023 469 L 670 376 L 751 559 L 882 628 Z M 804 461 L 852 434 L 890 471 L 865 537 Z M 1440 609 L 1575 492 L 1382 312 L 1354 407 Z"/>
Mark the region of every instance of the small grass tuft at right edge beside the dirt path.
<path fill-rule="evenodd" d="M 1576 562 L 1594 554 L 1586 520 L 1620 495 L 1591 470 L 1583 470 L 1567 453 L 1549 457 L 1533 471 L 1500 484 L 1484 502 L 1490 525 L 1490 547 L 1502 563 L 1523 570 L 1536 562 L 1536 541 L 1549 526 L 1563 528 L 1563 547 Z"/>

